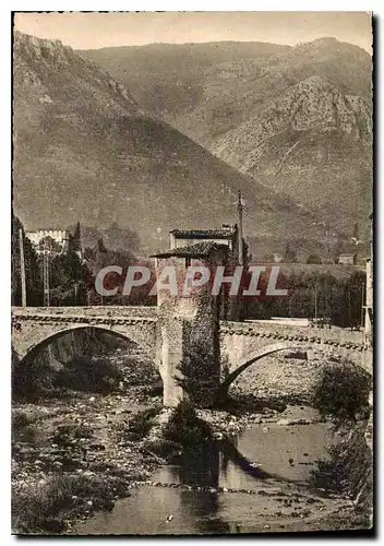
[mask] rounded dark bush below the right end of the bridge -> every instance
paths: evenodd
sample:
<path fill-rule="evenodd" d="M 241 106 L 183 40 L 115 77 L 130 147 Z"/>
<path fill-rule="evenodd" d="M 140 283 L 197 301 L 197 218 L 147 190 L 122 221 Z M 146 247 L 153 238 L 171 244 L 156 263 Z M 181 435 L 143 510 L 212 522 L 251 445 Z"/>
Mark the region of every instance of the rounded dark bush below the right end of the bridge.
<path fill-rule="evenodd" d="M 362 368 L 344 360 L 326 365 L 315 385 L 313 405 L 322 415 L 353 419 L 368 410 L 372 379 Z"/>

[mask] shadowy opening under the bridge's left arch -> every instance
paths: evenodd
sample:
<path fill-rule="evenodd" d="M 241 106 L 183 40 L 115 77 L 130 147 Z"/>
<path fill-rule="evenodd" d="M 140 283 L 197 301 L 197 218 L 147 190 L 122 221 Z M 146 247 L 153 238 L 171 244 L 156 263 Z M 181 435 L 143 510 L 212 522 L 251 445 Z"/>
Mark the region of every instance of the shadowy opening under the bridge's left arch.
<path fill-rule="evenodd" d="M 144 389 L 145 388 L 145 389 Z M 128 335 L 103 327 L 74 327 L 55 332 L 13 359 L 12 394 L 41 399 L 75 392 L 128 395 L 135 390 L 163 395 L 153 356 Z"/>

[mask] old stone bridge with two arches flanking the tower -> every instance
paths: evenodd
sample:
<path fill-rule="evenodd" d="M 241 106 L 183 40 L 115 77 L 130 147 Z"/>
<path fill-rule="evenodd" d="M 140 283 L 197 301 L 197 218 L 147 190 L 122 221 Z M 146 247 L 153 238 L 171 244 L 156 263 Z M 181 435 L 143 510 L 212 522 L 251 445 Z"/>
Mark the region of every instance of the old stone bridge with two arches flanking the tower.
<path fill-rule="evenodd" d="M 191 307 L 191 306 L 190 306 Z M 211 313 L 213 314 L 213 313 Z M 208 316 L 211 317 L 208 313 Z M 191 316 L 194 317 L 191 321 Z M 199 324 L 200 335 L 218 345 L 213 375 L 219 377 L 220 366 L 228 366 L 229 384 L 249 366 L 279 351 L 322 348 L 337 351 L 364 366 L 367 351 L 360 332 L 313 330 L 303 327 L 266 323 L 265 321 L 218 323 L 196 316 L 193 306 L 180 312 L 164 312 L 159 307 L 24 307 L 12 309 L 12 348 L 20 361 L 53 339 L 76 329 L 101 329 L 136 343 L 158 366 L 164 382 L 164 403 L 175 405 L 182 390 L 175 380 L 176 368 L 188 353 L 185 323 Z M 201 327 L 203 324 L 203 327 Z M 191 327 L 190 327 L 191 330 Z M 217 340 L 216 340 L 217 337 Z M 217 343 L 216 343 L 217 342 Z M 218 372 L 218 373 L 217 373 Z M 218 385 L 217 385 L 218 387 Z"/>

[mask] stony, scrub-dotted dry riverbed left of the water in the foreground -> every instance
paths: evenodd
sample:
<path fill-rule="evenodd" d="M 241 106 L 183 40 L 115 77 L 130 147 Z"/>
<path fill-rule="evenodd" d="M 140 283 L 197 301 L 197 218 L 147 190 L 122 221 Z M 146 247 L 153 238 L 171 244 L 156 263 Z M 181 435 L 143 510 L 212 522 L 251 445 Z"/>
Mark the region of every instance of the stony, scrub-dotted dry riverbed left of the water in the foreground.
<path fill-rule="evenodd" d="M 132 413 L 145 407 L 124 395 L 79 394 L 73 402 L 15 406 L 14 532 L 62 532 L 69 520 L 110 509 L 117 498 L 129 495 L 132 483 L 147 479 L 161 460 L 143 442 L 128 441 L 119 432 Z M 47 497 L 52 495 L 64 497 L 62 506 L 49 507 Z M 41 512 L 45 508 L 48 513 Z"/>

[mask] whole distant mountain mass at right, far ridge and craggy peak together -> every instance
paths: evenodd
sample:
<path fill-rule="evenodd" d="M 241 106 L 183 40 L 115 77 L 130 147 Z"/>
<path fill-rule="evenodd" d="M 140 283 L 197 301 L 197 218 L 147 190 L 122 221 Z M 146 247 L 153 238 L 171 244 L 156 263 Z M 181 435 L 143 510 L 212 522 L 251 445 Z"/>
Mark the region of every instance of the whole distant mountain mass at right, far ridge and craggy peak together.
<path fill-rule="evenodd" d="M 369 237 L 372 60 L 321 38 L 83 51 L 135 99 L 242 173 L 350 236 Z M 331 198 L 332 195 L 332 198 Z"/>

